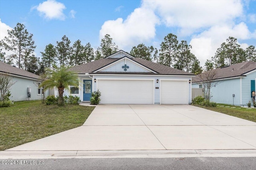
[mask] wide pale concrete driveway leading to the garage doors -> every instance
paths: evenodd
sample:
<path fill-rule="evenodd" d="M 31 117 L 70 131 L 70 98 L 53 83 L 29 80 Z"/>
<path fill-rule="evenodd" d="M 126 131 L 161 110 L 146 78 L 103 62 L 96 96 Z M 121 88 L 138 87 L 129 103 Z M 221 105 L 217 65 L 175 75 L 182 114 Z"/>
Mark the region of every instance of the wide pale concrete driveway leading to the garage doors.
<path fill-rule="evenodd" d="M 14 150 L 256 149 L 256 123 L 190 105 L 98 105 L 83 126 Z"/>

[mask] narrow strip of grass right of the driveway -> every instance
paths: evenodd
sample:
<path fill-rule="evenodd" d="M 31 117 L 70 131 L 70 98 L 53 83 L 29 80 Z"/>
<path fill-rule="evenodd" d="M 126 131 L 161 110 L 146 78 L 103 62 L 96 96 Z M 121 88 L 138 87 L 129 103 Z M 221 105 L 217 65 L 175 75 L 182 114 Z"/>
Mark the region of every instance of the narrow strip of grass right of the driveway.
<path fill-rule="evenodd" d="M 198 105 L 195 105 L 195 106 L 202 107 L 204 109 L 208 109 L 208 110 L 212 110 L 212 111 L 218 111 L 220 113 L 224 113 L 227 115 L 231 115 L 231 116 L 235 116 L 235 117 L 239 117 L 242 119 L 256 122 L 256 109 L 254 109 L 254 108 L 246 109 L 244 107 L 233 106 L 233 105 L 228 105 L 228 104 L 218 104 L 218 105 L 224 106 L 224 107 L 220 107 L 220 106 L 205 107 L 205 106 L 198 106 Z M 225 107 L 225 106 L 229 106 L 229 107 Z M 231 107 L 236 107 L 236 108 L 231 108 Z M 241 108 L 241 109 L 238 109 L 238 108 Z"/>

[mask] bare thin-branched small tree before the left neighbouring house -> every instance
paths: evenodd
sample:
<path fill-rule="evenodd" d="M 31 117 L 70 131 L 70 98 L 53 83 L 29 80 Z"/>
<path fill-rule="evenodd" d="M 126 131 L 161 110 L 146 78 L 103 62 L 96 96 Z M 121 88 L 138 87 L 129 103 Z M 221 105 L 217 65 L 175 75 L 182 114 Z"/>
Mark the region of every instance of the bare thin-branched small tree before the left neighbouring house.
<path fill-rule="evenodd" d="M 15 83 L 16 82 L 13 81 L 12 76 L 0 73 L 0 100 L 4 100 L 4 96 Z"/>

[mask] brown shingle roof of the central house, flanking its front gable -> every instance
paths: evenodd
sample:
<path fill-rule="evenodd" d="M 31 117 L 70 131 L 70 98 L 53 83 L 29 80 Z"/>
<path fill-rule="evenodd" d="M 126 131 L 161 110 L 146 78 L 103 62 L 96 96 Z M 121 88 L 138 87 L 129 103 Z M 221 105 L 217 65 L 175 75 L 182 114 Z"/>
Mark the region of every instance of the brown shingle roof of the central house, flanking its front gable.
<path fill-rule="evenodd" d="M 110 63 L 113 63 L 115 61 L 119 60 L 118 58 L 115 59 L 100 59 L 100 60 L 96 60 L 96 61 L 92 61 L 90 63 L 85 63 L 85 64 L 81 64 L 78 66 L 74 66 L 72 68 L 70 68 L 70 70 L 78 73 L 78 74 L 85 74 L 85 73 L 92 73 L 94 70 L 98 70 L 99 68 L 102 68 L 103 66 L 106 66 Z M 182 70 L 178 70 L 175 68 L 171 68 L 168 66 L 164 66 L 162 64 L 158 64 L 158 63 L 153 63 L 151 61 L 147 61 L 144 59 L 140 59 L 140 58 L 134 58 L 132 59 L 134 61 L 136 61 L 137 63 L 142 64 L 143 66 L 146 66 L 147 68 L 154 70 L 155 72 L 158 73 L 146 73 L 146 74 L 166 74 L 166 75 L 194 75 L 192 73 L 189 72 L 185 72 Z M 104 73 L 107 74 L 107 72 L 98 72 L 98 73 Z M 118 73 L 118 72 L 108 72 L 108 74 L 127 74 L 127 73 Z M 142 74 L 137 73 L 137 72 L 128 72 L 128 74 Z M 143 73 L 145 74 L 145 73 Z"/>

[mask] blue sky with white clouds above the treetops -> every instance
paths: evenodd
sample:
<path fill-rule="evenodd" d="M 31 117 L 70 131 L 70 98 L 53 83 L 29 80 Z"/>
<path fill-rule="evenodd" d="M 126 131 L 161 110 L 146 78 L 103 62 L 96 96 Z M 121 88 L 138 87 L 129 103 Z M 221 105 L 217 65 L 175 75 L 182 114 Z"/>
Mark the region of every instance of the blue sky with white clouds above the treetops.
<path fill-rule="evenodd" d="M 0 0 L 0 39 L 18 22 L 33 34 L 37 57 L 63 35 L 96 49 L 108 33 L 130 52 L 139 43 L 159 48 L 173 33 L 192 45 L 201 65 L 229 36 L 243 49 L 256 46 L 255 0 Z"/>

